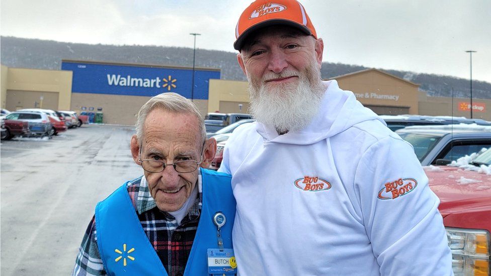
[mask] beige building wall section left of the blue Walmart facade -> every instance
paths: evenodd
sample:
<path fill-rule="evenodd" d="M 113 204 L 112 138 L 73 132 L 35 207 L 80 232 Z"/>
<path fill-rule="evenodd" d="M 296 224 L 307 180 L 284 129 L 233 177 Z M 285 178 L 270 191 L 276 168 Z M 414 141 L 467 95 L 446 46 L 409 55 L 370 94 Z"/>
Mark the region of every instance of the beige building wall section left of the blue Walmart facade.
<path fill-rule="evenodd" d="M 43 108 L 70 109 L 71 71 L 8 68 L 7 74 L 6 107 L 33 108 L 35 102 L 42 102 Z M 53 96 L 53 93 L 57 94 L 57 97 Z M 34 100 L 35 97 L 38 101 Z M 50 102 L 55 99 L 56 103 Z"/>

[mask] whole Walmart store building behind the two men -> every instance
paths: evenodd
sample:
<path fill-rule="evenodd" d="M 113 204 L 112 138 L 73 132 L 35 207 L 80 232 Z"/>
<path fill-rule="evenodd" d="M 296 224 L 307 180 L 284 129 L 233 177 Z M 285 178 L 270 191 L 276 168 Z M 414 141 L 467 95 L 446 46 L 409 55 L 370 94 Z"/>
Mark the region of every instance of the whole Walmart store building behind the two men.
<path fill-rule="evenodd" d="M 238 65 L 237 65 L 238 66 Z M 419 85 L 377 69 L 337 76 L 341 88 L 377 114 L 470 117 L 469 100 L 428 97 Z M 247 113 L 247 82 L 221 80 L 219 69 L 63 60 L 61 70 L 1 66 L 1 106 L 102 112 L 104 123 L 132 125 L 151 97 L 175 92 L 203 114 Z M 474 99 L 473 117 L 491 121 L 491 100 Z"/>

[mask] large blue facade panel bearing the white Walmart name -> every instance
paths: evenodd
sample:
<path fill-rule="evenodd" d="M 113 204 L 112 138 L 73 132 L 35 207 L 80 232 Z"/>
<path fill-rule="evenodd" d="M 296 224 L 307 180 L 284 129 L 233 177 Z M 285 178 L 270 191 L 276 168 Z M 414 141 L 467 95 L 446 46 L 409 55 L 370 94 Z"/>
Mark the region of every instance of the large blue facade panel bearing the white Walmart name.
<path fill-rule="evenodd" d="M 191 98 L 193 70 L 153 66 L 62 61 L 62 70 L 73 71 L 73 93 L 155 96 L 175 92 Z M 194 99 L 208 99 L 210 78 L 220 78 L 220 71 L 196 69 Z"/>

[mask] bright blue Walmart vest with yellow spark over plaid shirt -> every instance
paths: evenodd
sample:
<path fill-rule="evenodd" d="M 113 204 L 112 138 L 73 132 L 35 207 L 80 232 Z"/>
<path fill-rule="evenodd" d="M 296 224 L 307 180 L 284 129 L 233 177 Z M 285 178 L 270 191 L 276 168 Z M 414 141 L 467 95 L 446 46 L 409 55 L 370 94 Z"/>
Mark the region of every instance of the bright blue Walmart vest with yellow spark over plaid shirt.
<path fill-rule="evenodd" d="M 207 169 L 201 169 L 201 176 L 201 214 L 184 275 L 208 275 L 207 249 L 218 248 L 213 224 L 218 211 L 226 217 L 221 228 L 223 246 L 232 248 L 235 199 L 231 176 Z M 109 275 L 168 275 L 141 227 L 127 183 L 96 206 L 97 246 L 104 268 Z"/>

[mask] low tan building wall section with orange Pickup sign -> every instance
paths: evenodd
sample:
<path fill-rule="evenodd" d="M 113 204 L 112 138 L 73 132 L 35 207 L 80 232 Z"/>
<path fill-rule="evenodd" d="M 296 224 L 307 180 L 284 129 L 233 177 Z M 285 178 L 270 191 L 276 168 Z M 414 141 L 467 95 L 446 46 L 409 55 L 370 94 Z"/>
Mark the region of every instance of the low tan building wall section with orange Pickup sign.
<path fill-rule="evenodd" d="M 425 92 L 420 91 L 419 95 L 420 115 L 430 116 L 453 116 L 470 118 L 469 99 L 448 97 L 428 97 Z M 477 106 L 472 111 L 472 118 L 491 121 L 491 100 L 472 99 L 472 105 Z"/>

